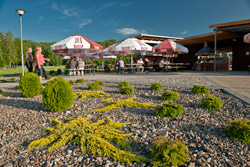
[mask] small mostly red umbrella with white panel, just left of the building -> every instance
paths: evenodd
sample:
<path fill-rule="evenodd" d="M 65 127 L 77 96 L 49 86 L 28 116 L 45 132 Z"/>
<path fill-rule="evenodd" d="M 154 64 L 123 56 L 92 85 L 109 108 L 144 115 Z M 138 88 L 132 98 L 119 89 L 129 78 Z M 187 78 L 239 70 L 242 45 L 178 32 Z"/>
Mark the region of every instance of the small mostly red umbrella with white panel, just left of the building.
<path fill-rule="evenodd" d="M 157 53 L 161 53 L 161 54 L 169 54 L 169 55 L 173 55 L 173 54 L 185 54 L 188 53 L 188 48 L 175 43 L 169 39 L 163 41 L 162 43 L 159 43 L 158 45 L 154 46 L 154 49 Z"/>

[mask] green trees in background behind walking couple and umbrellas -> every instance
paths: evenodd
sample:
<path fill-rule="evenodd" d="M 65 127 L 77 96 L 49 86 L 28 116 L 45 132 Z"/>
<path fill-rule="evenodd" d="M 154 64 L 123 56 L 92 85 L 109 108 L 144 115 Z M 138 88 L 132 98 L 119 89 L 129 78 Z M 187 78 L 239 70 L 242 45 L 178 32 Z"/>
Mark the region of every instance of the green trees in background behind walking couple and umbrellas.
<path fill-rule="evenodd" d="M 114 43 L 117 43 L 114 39 L 105 40 L 103 42 L 97 42 L 106 48 Z M 41 46 L 45 58 L 49 58 L 50 61 L 45 65 L 59 66 L 64 64 L 62 57 L 51 51 L 50 46 L 55 42 L 35 42 L 32 40 L 23 40 L 23 54 L 25 58 L 25 52 L 30 47 L 35 54 L 36 47 Z M 6 33 L 0 32 L 0 67 L 14 68 L 21 64 L 21 39 L 15 38 L 11 31 Z"/>

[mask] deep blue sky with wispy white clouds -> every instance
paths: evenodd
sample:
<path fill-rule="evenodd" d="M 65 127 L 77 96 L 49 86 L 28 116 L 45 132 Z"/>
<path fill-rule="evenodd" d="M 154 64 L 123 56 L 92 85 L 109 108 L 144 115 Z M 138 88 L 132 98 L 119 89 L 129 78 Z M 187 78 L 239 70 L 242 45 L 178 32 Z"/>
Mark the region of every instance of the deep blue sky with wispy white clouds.
<path fill-rule="evenodd" d="M 80 34 L 93 41 L 122 40 L 140 33 L 189 37 L 211 24 L 250 19 L 250 0 L 0 0 L 0 32 L 57 42 Z"/>

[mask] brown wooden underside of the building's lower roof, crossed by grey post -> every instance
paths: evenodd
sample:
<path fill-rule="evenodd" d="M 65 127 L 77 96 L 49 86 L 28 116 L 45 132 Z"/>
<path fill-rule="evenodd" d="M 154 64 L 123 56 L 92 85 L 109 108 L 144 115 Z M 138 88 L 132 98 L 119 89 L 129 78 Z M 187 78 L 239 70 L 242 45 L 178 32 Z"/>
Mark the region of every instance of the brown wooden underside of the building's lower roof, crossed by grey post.
<path fill-rule="evenodd" d="M 218 31 L 216 38 L 218 41 L 220 41 L 220 40 L 226 40 L 226 39 L 234 39 L 234 38 L 238 38 L 241 36 L 242 35 L 240 35 L 240 34 Z M 197 36 L 192 36 L 192 37 L 188 37 L 188 38 L 181 39 L 181 40 L 176 40 L 175 42 L 179 43 L 179 44 L 183 44 L 183 45 L 192 45 L 192 44 L 204 43 L 205 41 L 213 42 L 214 41 L 214 32 L 202 34 L 202 35 L 197 35 Z"/>

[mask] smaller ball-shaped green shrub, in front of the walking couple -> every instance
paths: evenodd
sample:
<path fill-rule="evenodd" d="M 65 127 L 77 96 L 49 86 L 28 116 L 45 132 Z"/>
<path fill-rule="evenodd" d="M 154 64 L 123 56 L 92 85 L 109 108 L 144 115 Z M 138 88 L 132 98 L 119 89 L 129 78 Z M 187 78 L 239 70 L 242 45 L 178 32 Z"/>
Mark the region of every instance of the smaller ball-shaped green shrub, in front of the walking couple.
<path fill-rule="evenodd" d="M 33 97 L 40 94 L 42 84 L 40 78 L 30 72 L 20 77 L 19 88 L 24 97 Z"/>

